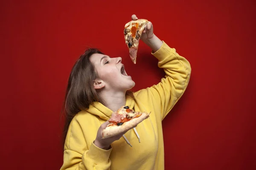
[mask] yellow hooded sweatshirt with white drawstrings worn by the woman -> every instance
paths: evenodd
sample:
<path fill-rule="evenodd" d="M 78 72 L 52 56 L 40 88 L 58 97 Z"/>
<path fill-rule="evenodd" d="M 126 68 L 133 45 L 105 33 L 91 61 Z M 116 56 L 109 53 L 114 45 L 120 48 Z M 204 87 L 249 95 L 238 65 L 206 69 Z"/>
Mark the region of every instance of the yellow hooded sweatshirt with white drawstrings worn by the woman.
<path fill-rule="evenodd" d="M 99 126 L 113 111 L 94 102 L 87 111 L 73 118 L 64 146 L 61 170 L 163 170 L 164 147 L 162 120 L 183 95 L 189 83 L 189 62 L 165 42 L 152 53 L 166 76 L 157 85 L 134 93 L 134 100 L 126 97 L 126 105 L 134 111 L 151 112 L 150 117 L 113 142 L 111 149 L 96 147 L 93 141 Z M 127 141 L 125 141 L 125 138 Z M 132 147 L 127 144 L 130 142 Z"/>

